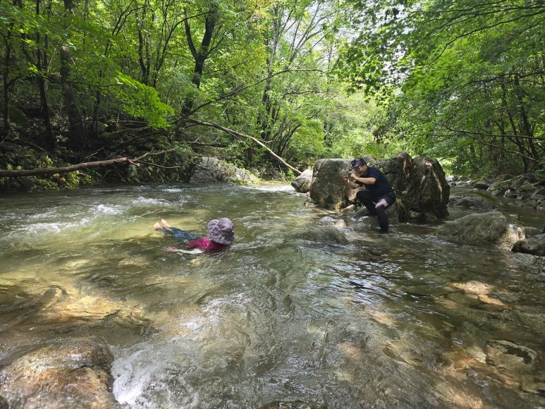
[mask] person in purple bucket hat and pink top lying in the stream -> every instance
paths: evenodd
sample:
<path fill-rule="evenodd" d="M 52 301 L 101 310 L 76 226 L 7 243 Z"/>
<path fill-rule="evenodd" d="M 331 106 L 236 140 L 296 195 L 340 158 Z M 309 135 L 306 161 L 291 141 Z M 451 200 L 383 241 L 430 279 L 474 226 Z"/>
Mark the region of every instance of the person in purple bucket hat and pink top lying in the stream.
<path fill-rule="evenodd" d="M 187 241 L 187 243 L 185 243 L 185 247 L 188 249 L 198 250 L 197 252 L 226 250 L 235 240 L 233 222 L 226 217 L 209 221 L 208 237 L 202 238 L 199 238 L 199 236 L 197 236 L 195 233 L 181 230 L 177 227 L 172 227 L 165 220 L 161 220 L 161 224 L 154 224 L 153 227 L 155 230 L 170 234 L 180 241 Z M 184 251 L 173 247 L 169 247 L 166 250 L 171 252 Z"/>

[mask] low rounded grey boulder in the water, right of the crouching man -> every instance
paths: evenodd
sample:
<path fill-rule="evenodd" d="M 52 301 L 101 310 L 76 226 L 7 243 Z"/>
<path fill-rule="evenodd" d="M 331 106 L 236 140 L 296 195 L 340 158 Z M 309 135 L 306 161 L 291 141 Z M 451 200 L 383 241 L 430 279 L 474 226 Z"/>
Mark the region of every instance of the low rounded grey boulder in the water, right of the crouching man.
<path fill-rule="evenodd" d="M 448 221 L 437 229 L 436 234 L 439 238 L 453 243 L 491 244 L 511 250 L 518 240 L 524 238 L 524 228 L 494 210 L 468 214 L 455 221 Z"/>

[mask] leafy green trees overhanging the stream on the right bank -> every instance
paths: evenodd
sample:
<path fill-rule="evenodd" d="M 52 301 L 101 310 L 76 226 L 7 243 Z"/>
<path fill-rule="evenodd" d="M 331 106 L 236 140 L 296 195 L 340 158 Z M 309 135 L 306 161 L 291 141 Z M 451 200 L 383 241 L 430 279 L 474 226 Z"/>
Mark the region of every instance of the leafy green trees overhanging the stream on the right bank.
<path fill-rule="evenodd" d="M 388 102 L 397 107 L 390 111 L 398 115 L 388 138 L 403 138 L 415 152 L 444 158 L 463 173 L 539 166 L 543 4 L 385 1 L 371 10 L 353 4 L 362 30 L 339 66 L 353 88 L 391 92 Z"/>

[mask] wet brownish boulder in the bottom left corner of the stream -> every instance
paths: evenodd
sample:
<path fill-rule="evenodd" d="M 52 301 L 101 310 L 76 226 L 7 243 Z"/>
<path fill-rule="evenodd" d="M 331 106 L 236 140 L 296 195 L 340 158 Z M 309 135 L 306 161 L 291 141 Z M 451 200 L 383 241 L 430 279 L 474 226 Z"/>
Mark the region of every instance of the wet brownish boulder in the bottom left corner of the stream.
<path fill-rule="evenodd" d="M 1 370 L 0 396 L 10 408 L 114 408 L 113 360 L 98 341 L 51 343 Z"/>

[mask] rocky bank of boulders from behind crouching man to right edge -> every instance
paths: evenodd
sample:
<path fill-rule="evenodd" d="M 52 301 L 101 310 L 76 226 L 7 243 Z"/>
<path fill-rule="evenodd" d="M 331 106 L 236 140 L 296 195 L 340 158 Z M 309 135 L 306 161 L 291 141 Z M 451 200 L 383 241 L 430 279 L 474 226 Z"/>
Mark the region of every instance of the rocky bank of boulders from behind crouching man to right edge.
<path fill-rule="evenodd" d="M 540 226 L 526 226 L 519 212 L 512 210 L 518 207 L 542 212 L 545 178 L 537 175 L 502 175 L 490 181 L 447 178 L 436 159 L 413 159 L 405 152 L 382 161 L 366 159 L 381 169 L 398 193 L 396 204 L 387 211 L 391 220 L 436 223 L 448 216 L 448 204 L 451 209 L 467 209 L 470 214 L 441 225 L 437 234 L 443 240 L 494 245 L 538 257 L 545 255 L 545 221 Z M 348 159 L 320 159 L 312 171 L 296 178 L 292 186 L 298 192 L 308 193 L 309 202 L 317 207 L 340 211 L 348 219 L 367 216 L 365 209 L 357 207 L 355 190 L 339 181 L 338 175 L 348 169 L 348 163 Z"/>

